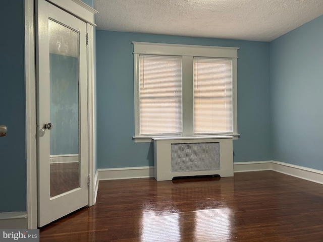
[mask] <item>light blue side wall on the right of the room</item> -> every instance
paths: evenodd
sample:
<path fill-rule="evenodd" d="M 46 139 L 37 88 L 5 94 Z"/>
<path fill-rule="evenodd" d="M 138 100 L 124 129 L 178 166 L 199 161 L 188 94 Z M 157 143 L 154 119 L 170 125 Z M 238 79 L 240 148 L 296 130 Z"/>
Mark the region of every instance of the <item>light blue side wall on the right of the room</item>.
<path fill-rule="evenodd" d="M 323 16 L 270 43 L 272 159 L 323 170 Z"/>

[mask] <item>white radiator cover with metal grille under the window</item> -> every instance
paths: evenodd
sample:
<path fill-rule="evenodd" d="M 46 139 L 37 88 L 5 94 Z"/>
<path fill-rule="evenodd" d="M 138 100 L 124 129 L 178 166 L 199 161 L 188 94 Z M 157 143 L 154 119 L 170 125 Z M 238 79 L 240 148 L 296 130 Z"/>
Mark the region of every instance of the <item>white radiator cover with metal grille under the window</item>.
<path fill-rule="evenodd" d="M 233 176 L 232 136 L 153 138 L 154 177 Z"/>

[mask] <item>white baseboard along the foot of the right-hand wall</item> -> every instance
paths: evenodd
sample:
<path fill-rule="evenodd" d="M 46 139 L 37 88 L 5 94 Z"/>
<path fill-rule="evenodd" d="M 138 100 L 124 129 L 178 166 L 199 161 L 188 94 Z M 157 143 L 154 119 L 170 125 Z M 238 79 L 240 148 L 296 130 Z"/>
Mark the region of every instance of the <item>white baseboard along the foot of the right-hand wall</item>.
<path fill-rule="evenodd" d="M 323 184 L 323 171 L 289 163 L 272 161 L 272 170 L 295 176 L 314 183 Z"/>

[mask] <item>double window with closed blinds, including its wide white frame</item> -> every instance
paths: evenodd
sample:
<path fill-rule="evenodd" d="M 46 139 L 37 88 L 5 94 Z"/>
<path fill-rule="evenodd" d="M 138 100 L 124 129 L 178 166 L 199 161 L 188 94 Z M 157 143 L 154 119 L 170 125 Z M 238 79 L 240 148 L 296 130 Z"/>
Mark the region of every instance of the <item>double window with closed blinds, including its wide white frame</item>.
<path fill-rule="evenodd" d="M 237 50 L 133 42 L 135 142 L 237 134 Z"/>

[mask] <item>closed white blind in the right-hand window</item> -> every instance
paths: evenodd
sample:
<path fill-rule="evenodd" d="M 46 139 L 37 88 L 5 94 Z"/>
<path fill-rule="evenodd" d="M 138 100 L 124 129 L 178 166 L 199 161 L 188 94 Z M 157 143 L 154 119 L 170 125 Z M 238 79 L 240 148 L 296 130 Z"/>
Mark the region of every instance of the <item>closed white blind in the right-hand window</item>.
<path fill-rule="evenodd" d="M 232 59 L 194 57 L 194 134 L 233 132 Z"/>

